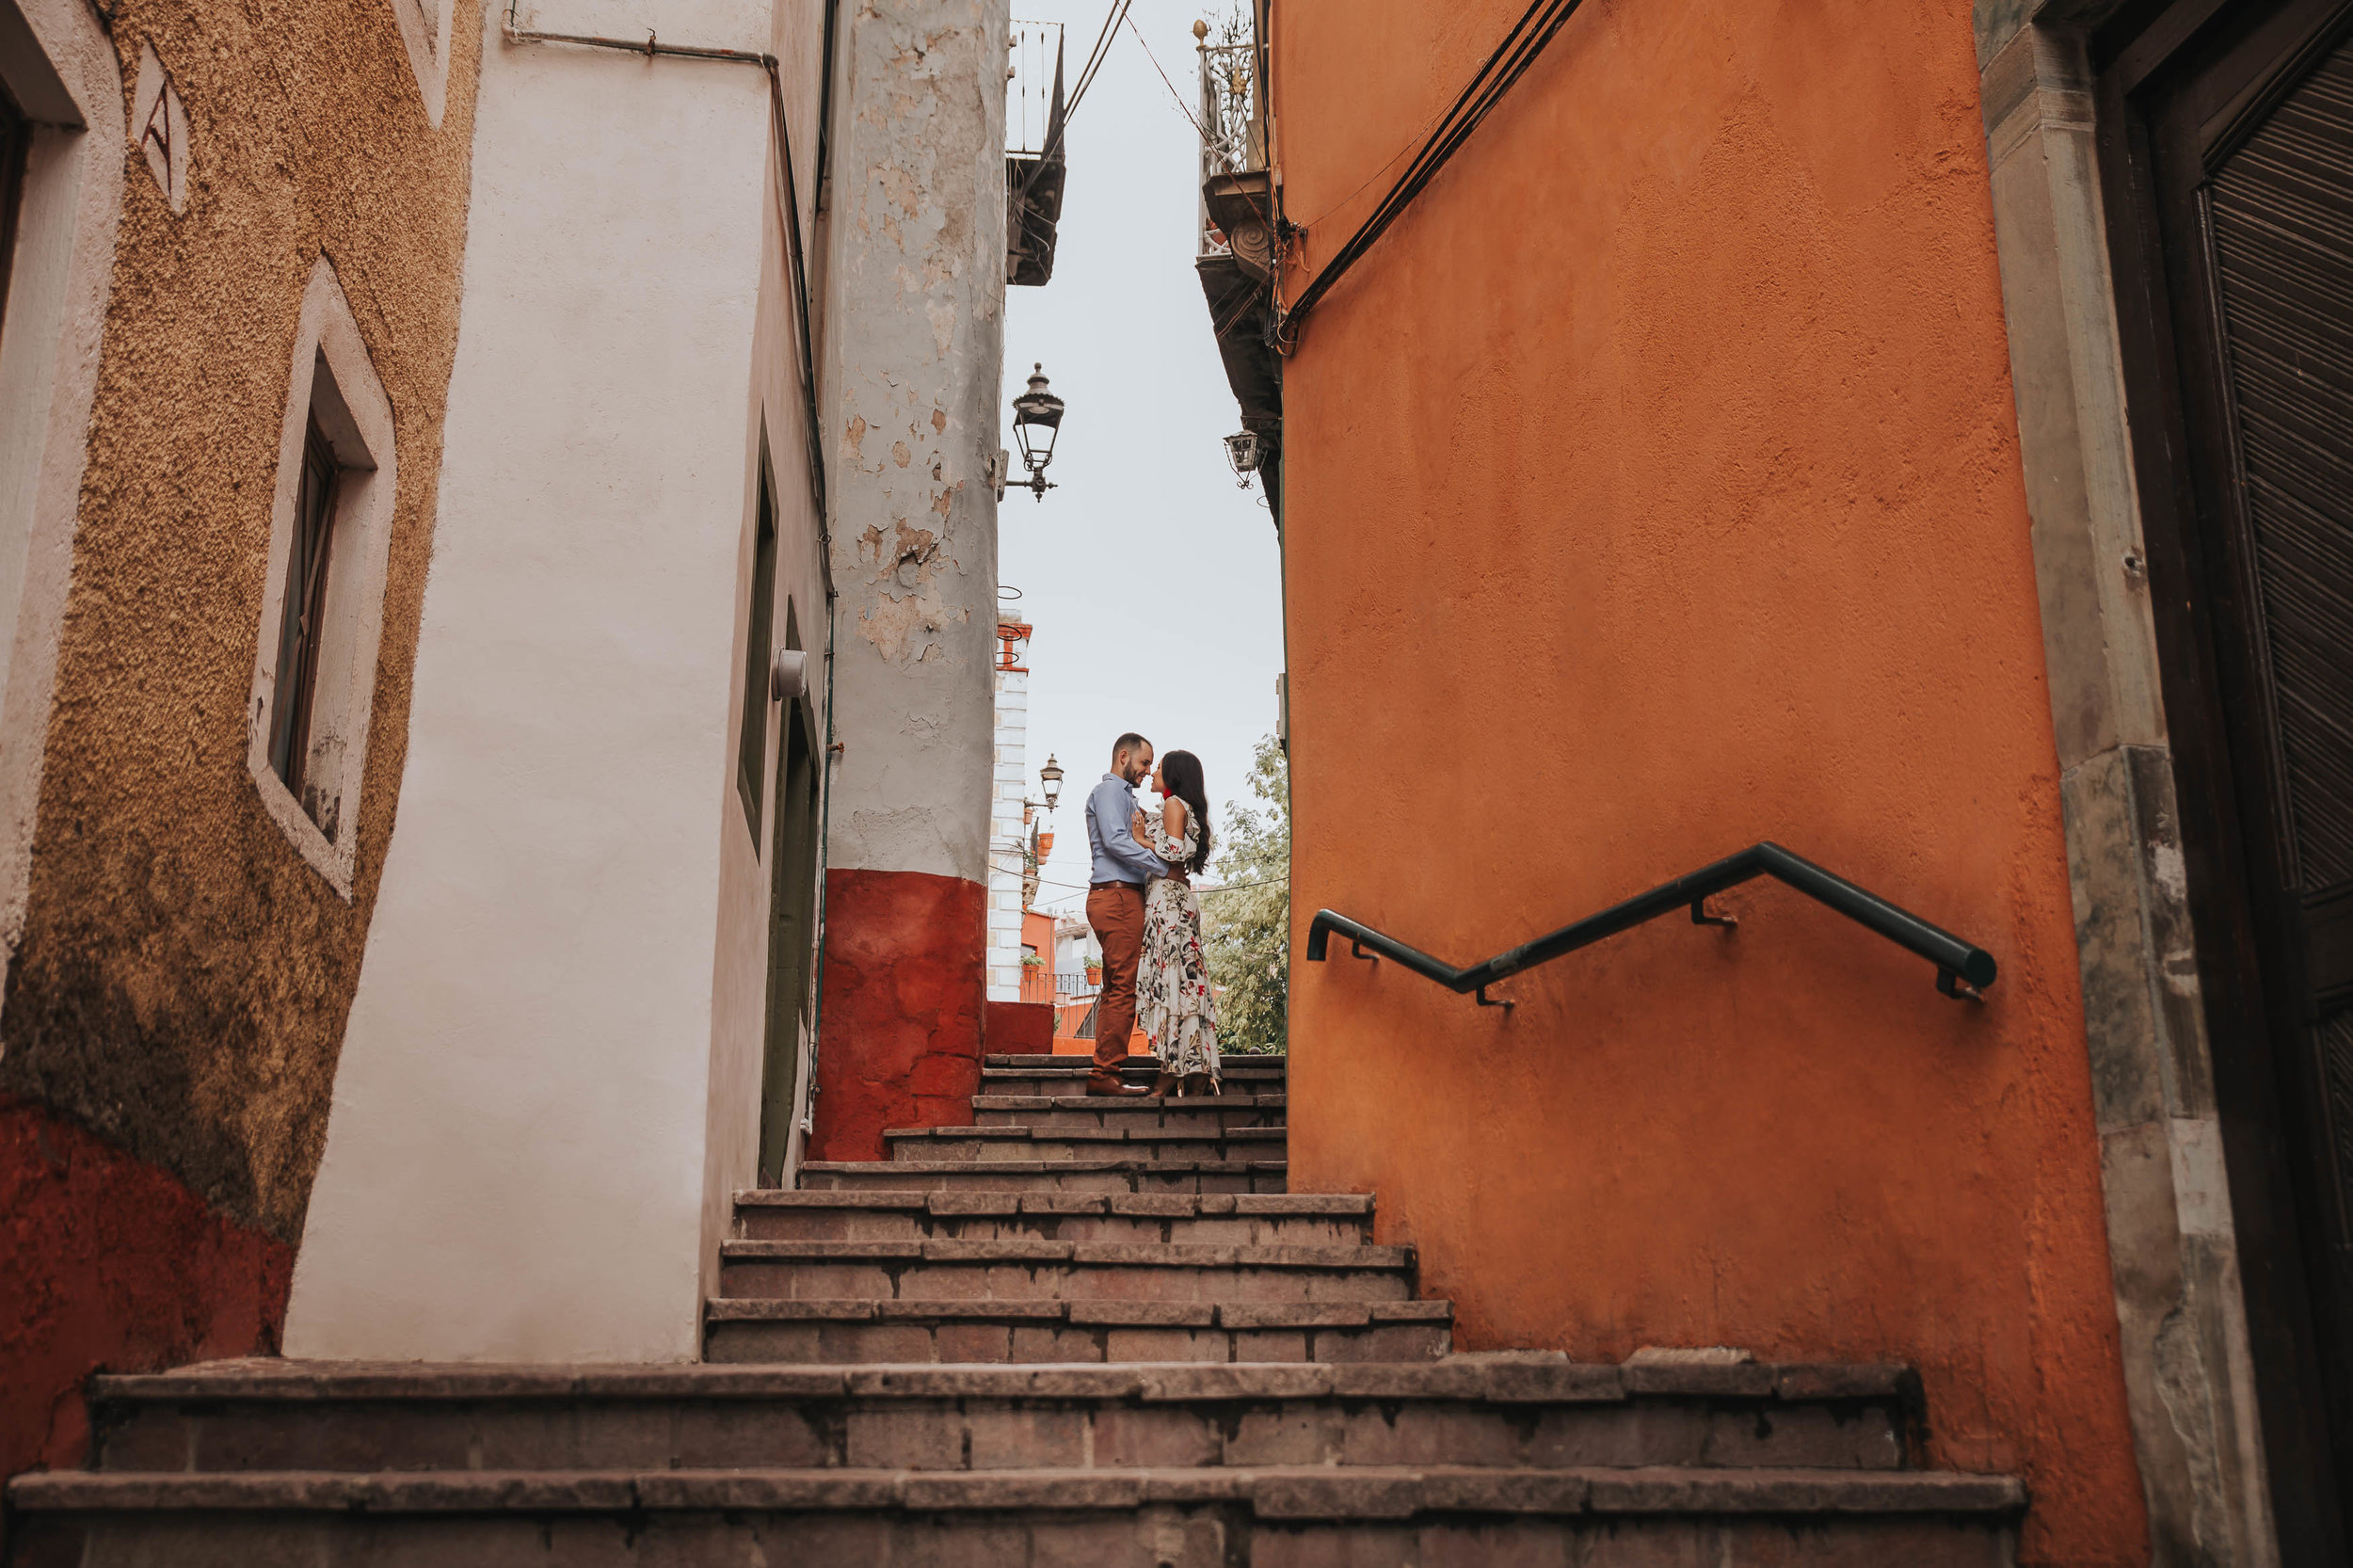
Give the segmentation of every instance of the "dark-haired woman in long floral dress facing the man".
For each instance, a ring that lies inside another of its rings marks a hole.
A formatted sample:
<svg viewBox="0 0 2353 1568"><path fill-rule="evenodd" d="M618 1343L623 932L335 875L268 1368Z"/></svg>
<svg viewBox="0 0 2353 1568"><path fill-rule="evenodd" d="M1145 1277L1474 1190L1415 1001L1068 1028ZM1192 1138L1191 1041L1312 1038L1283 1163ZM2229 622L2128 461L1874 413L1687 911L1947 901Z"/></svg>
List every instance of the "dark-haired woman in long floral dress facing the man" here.
<svg viewBox="0 0 2353 1568"><path fill-rule="evenodd" d="M1153 1095L1217 1092L1217 1003L1200 949L1193 876L1209 864L1209 798L1200 758L1169 751L1153 770L1158 812L1136 812L1136 843L1167 862L1144 885L1144 963L1136 968L1136 1022L1160 1057Z"/></svg>

